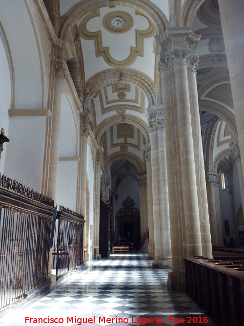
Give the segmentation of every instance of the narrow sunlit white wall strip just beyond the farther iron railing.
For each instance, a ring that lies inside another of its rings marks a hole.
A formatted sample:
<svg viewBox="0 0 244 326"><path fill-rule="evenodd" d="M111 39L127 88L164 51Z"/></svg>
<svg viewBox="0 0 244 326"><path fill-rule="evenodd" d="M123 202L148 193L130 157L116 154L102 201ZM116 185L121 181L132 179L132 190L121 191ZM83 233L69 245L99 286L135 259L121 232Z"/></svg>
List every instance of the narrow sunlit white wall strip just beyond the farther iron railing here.
<svg viewBox="0 0 244 326"><path fill-rule="evenodd" d="M86 171L88 176L88 186L89 186L89 259L92 258L92 238L91 236L91 229L93 230L93 217L94 217L94 168L93 168L93 161L92 161L92 152L89 145L87 145L87 162L86 162ZM92 235L93 237L93 235Z"/></svg>

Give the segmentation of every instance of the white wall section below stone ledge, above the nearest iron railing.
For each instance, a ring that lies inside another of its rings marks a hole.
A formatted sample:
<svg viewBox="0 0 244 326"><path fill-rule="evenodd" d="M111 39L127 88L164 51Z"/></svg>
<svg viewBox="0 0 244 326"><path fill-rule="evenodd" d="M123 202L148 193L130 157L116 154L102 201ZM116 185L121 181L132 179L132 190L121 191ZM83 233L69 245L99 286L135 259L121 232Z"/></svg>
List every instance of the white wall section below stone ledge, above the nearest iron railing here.
<svg viewBox="0 0 244 326"><path fill-rule="evenodd" d="M40 192L45 117L10 117L4 173Z"/></svg>

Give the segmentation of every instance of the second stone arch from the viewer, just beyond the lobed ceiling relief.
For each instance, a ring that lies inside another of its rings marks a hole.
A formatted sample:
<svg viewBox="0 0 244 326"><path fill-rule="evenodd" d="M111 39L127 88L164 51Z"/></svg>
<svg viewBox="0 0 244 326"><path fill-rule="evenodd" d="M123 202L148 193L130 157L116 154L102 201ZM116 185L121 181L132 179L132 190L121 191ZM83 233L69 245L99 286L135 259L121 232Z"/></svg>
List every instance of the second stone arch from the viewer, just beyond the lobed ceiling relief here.
<svg viewBox="0 0 244 326"><path fill-rule="evenodd" d="M121 83L136 85L144 92L149 107L156 104L156 90L153 81L137 70L121 68L103 70L88 79L84 87L84 109L89 108L89 102L101 88L118 83L118 74Z"/></svg>

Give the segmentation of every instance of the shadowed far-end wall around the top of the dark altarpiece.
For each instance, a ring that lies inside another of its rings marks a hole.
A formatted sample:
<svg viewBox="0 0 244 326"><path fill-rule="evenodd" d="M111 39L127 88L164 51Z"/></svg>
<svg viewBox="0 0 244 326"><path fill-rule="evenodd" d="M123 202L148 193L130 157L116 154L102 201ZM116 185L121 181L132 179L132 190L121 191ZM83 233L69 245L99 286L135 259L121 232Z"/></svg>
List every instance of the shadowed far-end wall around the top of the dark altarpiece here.
<svg viewBox="0 0 244 326"><path fill-rule="evenodd" d="M140 212L140 198L138 182L130 175L127 175L117 189L118 199L115 201L115 214L122 208L122 202L127 196L134 200L135 206Z"/></svg>

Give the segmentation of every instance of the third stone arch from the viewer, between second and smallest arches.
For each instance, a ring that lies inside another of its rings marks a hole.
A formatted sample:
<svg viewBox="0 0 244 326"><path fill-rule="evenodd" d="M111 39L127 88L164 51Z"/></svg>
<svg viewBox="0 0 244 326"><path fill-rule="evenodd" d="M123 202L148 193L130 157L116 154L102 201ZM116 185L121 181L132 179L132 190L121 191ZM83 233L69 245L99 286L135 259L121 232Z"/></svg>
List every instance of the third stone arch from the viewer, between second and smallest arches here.
<svg viewBox="0 0 244 326"><path fill-rule="evenodd" d="M148 128L147 128L147 124L142 121L140 118L135 117L134 115L130 115L130 114L123 114L123 121L121 120L121 117L119 114L115 114L112 115L106 119L104 119L97 127L96 130L96 140L99 144L100 138L103 134L103 132L113 126L116 125L118 123L128 123L129 125L133 125L135 127L137 127L139 130L142 131L142 134L145 138L145 142L146 144L149 143L149 132L148 132Z"/></svg>

